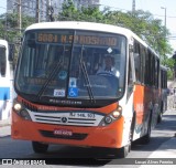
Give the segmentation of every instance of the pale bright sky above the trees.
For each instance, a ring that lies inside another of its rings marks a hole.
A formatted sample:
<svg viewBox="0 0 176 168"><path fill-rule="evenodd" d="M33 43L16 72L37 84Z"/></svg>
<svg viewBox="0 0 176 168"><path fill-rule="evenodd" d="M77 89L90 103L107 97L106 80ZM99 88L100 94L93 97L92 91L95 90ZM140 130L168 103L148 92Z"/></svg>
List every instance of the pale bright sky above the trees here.
<svg viewBox="0 0 176 168"><path fill-rule="evenodd" d="M0 0L0 14L6 13L7 0ZM110 7L111 10L121 10L123 12L132 10L133 0L100 0L101 7ZM170 32L169 43L176 51L176 1L175 0L135 0L135 10L150 11L155 19L161 19ZM172 38L173 36L173 38Z"/></svg>

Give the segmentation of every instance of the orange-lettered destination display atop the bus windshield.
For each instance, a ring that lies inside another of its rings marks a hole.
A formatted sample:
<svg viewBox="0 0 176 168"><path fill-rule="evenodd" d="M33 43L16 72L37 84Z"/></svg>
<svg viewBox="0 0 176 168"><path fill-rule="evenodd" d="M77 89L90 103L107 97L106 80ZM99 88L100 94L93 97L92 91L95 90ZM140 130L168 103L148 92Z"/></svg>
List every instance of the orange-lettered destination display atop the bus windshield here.
<svg viewBox="0 0 176 168"><path fill-rule="evenodd" d="M107 45L117 46L117 36L99 36L99 35L72 35L72 34L56 34L56 33L37 33L37 43L58 43L58 44L72 44L81 45Z"/></svg>

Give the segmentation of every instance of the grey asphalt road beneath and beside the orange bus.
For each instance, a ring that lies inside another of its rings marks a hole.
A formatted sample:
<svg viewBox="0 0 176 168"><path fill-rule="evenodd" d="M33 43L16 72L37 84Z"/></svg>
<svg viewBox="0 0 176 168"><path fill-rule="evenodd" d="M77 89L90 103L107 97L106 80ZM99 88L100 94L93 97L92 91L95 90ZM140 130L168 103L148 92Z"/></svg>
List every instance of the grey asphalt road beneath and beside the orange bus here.
<svg viewBox="0 0 176 168"><path fill-rule="evenodd" d="M82 147L69 147L63 145L51 145L46 154L34 154L32 150L31 141L25 140L13 140L10 135L0 137L0 158L21 158L21 159L37 159L54 161L57 167L120 167L127 168L131 164L130 168L139 168L141 165L134 164L140 158L146 159L153 156L158 158L156 151L161 150L161 146L165 144L165 149L173 149L176 151L176 111L167 111L161 124L152 132L151 143L148 145L133 144L131 153L125 159L97 159L109 158L110 153L105 153L102 149L95 148L82 148ZM174 143L168 143L174 139ZM156 154L156 155L153 155ZM165 157L165 156L163 156ZM176 153L173 153L172 158L176 159ZM176 165L175 165L176 166ZM50 167L55 167L51 165ZM170 166L169 166L170 168Z"/></svg>

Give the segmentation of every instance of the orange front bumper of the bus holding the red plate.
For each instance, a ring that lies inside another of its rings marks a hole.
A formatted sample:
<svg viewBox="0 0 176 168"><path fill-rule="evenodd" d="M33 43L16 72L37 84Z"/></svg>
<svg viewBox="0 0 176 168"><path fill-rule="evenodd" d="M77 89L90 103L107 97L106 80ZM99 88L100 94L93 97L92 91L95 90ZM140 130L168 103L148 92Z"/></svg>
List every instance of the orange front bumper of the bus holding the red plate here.
<svg viewBox="0 0 176 168"><path fill-rule="evenodd" d="M24 120L12 113L11 137L46 144L121 148L123 123L121 117L99 127L51 125Z"/></svg>

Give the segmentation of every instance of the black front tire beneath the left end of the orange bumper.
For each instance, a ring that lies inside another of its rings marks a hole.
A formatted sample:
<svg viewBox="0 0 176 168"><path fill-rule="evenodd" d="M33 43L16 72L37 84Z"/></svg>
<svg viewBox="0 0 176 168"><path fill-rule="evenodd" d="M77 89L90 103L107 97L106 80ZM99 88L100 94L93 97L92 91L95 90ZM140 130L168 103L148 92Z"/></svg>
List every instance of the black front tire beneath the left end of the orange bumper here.
<svg viewBox="0 0 176 168"><path fill-rule="evenodd" d="M48 148L48 144L43 144L38 141L32 141L33 150L37 154L46 153Z"/></svg>

